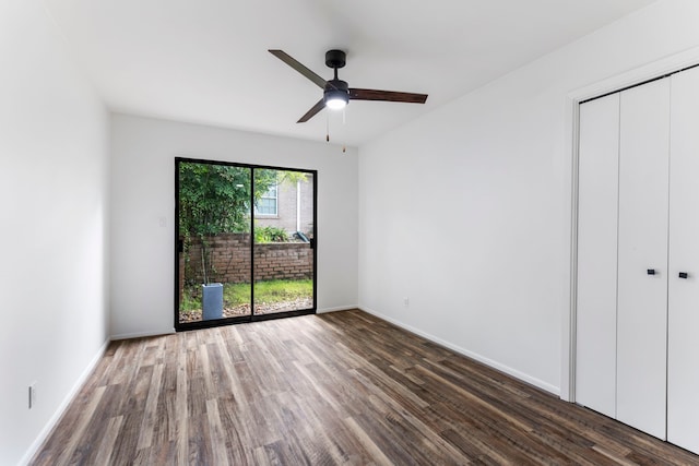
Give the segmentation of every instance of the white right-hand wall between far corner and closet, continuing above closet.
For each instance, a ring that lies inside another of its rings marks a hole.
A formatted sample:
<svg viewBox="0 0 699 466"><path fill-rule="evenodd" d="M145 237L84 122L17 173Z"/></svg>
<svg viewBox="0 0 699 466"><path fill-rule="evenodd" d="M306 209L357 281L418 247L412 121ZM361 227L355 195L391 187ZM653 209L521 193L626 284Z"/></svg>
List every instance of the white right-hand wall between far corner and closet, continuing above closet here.
<svg viewBox="0 0 699 466"><path fill-rule="evenodd" d="M570 95L699 45L697 24L699 2L659 1L362 146L359 306L559 393Z"/></svg>

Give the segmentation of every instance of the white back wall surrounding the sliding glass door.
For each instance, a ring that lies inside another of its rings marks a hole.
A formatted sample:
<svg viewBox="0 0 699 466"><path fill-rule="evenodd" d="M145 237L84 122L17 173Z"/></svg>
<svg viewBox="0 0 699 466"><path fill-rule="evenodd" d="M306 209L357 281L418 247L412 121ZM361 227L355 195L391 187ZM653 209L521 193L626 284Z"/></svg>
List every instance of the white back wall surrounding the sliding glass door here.
<svg viewBox="0 0 699 466"><path fill-rule="evenodd" d="M318 170L318 310L357 306L356 150L114 115L111 155L112 336L174 328L177 156Z"/></svg>

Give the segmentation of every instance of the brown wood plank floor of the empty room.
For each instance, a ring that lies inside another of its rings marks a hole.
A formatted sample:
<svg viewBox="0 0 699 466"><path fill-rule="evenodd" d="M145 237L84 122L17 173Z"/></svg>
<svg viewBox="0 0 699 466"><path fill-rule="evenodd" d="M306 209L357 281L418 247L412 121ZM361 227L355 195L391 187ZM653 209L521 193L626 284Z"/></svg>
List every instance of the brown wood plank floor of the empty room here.
<svg viewBox="0 0 699 466"><path fill-rule="evenodd" d="M353 310L115 342L32 464L699 457Z"/></svg>

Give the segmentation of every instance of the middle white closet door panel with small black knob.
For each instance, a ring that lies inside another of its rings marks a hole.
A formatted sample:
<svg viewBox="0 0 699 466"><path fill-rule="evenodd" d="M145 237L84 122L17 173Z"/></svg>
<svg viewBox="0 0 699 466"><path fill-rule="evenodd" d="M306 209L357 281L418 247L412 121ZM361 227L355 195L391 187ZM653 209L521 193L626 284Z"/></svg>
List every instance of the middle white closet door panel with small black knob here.
<svg viewBox="0 0 699 466"><path fill-rule="evenodd" d="M660 439L666 432L668 145L670 80L624 91L616 414Z"/></svg>

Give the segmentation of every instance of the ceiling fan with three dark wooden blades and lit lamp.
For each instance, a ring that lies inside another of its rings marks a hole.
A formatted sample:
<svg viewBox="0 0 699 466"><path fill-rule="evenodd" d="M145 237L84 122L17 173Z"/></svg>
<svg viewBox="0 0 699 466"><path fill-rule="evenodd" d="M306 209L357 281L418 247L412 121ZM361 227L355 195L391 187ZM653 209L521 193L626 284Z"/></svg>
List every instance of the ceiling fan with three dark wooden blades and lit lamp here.
<svg viewBox="0 0 699 466"><path fill-rule="evenodd" d="M310 110L308 110L306 115L297 121L297 123L305 123L310 120L316 116L316 113L322 110L323 107L331 109L344 108L350 100L403 101L408 104L425 104L427 100L427 94L350 87L346 81L342 81L337 77L337 70L345 65L346 55L342 50L328 50L325 52L325 64L328 68L332 68L335 72L334 77L330 81L323 80L283 50L269 51L323 89L323 98L318 100L318 103L313 105Z"/></svg>

